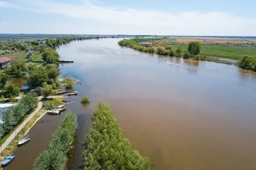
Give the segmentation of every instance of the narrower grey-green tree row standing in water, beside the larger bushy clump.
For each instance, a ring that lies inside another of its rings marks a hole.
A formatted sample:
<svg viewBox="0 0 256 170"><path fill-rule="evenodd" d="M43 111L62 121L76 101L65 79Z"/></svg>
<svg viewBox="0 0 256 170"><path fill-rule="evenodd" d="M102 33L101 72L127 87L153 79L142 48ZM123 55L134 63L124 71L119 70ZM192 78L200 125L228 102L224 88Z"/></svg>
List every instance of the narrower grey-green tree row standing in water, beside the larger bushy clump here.
<svg viewBox="0 0 256 170"><path fill-rule="evenodd" d="M49 150L40 153L35 160L33 169L65 169L65 162L67 162L68 152L72 148L77 127L77 116L74 111L67 111L53 134Z"/></svg>

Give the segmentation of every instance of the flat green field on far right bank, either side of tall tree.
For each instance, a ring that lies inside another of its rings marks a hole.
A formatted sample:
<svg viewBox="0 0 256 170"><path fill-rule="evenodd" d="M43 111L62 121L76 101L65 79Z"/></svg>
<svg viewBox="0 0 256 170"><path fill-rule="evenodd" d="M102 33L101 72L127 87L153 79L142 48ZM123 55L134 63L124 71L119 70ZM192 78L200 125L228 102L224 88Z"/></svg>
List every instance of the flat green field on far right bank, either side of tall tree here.
<svg viewBox="0 0 256 170"><path fill-rule="evenodd" d="M188 45L164 45L170 46L173 50L181 47L182 50L187 50ZM223 45L202 45L200 55L207 57L220 57L225 59L238 60L244 55L256 59L256 46L223 46Z"/></svg>

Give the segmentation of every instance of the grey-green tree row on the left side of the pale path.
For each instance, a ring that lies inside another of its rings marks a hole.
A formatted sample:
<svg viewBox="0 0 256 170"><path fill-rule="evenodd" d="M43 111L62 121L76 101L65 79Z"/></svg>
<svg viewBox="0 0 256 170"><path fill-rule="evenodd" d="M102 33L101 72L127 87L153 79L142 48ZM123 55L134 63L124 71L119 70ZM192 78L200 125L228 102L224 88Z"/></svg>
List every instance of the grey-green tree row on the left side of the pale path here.
<svg viewBox="0 0 256 170"><path fill-rule="evenodd" d="M35 93L28 93L19 103L8 108L3 113L3 124L0 124L0 138L12 131L28 114L38 106L38 99Z"/></svg>

